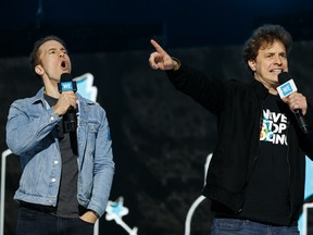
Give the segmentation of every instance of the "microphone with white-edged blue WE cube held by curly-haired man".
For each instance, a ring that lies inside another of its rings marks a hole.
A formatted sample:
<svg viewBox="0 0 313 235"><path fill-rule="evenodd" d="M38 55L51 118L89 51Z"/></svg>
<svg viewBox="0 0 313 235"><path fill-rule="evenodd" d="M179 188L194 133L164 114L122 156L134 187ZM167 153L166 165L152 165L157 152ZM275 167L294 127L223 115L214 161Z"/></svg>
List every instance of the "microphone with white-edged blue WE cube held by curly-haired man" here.
<svg viewBox="0 0 313 235"><path fill-rule="evenodd" d="M295 81L287 72L281 72L280 74L278 74L278 83L280 84L280 86L277 87L277 91L279 94L280 99L288 97L289 95L298 90ZM308 134L309 133L308 124L302 115L301 110L296 109L293 112L301 131L304 134Z"/></svg>

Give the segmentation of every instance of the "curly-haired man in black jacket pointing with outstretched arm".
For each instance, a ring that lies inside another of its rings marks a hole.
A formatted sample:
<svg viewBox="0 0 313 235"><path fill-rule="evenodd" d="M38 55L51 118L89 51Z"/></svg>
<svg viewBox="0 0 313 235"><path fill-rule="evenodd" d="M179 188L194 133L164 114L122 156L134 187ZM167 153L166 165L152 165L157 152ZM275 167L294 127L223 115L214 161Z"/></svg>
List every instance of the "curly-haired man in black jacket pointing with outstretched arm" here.
<svg viewBox="0 0 313 235"><path fill-rule="evenodd" d="M243 48L252 83L206 77L172 58L154 40L149 63L176 89L217 118L218 137L202 194L212 200L212 235L298 235L305 154L313 157L313 109L301 92L280 99L292 39L279 25L256 28ZM302 132L295 116L308 124Z"/></svg>

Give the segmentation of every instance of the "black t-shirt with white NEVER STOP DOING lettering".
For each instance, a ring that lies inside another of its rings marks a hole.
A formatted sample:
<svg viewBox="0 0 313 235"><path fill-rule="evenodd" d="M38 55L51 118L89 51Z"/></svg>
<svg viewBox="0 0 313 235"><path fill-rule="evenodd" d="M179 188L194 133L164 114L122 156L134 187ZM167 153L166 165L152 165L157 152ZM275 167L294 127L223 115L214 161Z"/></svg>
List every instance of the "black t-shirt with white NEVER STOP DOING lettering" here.
<svg viewBox="0 0 313 235"><path fill-rule="evenodd" d="M287 116L278 96L268 95L263 106L263 126L258 161L245 191L240 217L288 225L290 214Z"/></svg>

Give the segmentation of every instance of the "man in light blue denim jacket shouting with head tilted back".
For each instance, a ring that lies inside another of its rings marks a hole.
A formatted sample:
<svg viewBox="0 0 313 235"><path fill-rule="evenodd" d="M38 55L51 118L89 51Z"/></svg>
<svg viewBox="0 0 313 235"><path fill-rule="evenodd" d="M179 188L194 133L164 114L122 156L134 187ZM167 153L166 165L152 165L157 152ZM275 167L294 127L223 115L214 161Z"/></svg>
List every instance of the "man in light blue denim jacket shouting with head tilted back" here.
<svg viewBox="0 0 313 235"><path fill-rule="evenodd" d="M7 124L7 144L23 169L16 234L92 234L114 174L105 111L73 90L60 94L60 77L72 69L61 38L39 39L29 59L45 87L14 101ZM63 127L70 108L77 116L71 133Z"/></svg>

